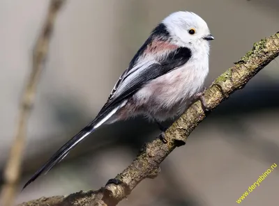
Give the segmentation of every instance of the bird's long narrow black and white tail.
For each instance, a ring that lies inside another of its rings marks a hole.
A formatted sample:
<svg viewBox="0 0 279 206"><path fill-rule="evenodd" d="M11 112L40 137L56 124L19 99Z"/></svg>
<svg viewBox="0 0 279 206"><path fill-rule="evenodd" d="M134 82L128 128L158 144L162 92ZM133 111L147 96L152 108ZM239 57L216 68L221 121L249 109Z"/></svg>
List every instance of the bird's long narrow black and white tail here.
<svg viewBox="0 0 279 206"><path fill-rule="evenodd" d="M98 116L95 120L93 120L89 125L84 127L78 134L73 136L65 145L63 145L52 157L24 184L22 190L27 187L31 182L36 180L40 175L46 174L50 171L54 165L58 164L66 155L75 148L75 146L80 143L86 136L89 136L92 132L94 132L100 125L103 125L118 109L121 108L122 105L116 106L116 108L112 109L112 111L108 112L107 115Z"/></svg>

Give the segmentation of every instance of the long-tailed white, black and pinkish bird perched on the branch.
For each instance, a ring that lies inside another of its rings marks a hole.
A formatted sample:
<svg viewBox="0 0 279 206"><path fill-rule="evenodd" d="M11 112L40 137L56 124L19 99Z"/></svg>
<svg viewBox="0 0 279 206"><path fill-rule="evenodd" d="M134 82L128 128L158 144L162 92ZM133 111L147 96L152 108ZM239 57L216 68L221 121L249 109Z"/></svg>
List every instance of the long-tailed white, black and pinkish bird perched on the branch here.
<svg viewBox="0 0 279 206"><path fill-rule="evenodd" d="M213 39L204 19L193 12L176 11L165 17L116 81L96 118L59 148L23 189L101 125L144 116L157 122L163 134L161 122L181 115L204 89Z"/></svg>

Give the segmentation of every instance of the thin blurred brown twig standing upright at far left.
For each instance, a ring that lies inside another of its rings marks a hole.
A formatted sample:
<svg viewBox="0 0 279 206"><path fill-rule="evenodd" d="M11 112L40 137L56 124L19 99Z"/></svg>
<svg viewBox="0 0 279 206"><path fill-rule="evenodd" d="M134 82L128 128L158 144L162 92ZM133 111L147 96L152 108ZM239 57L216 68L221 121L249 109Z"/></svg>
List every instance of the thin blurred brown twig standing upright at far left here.
<svg viewBox="0 0 279 206"><path fill-rule="evenodd" d="M3 189L1 191L1 205L13 205L13 201L15 199L17 182L20 180L22 152L24 150L27 136L27 121L33 108L38 81L40 80L40 76L43 72L55 17L64 1L65 0L52 0L50 2L47 19L33 49L33 65L31 75L27 81L27 85L20 102L20 111L18 115L15 138L12 148L10 149L10 156L4 171L3 178L5 184L3 185Z"/></svg>

